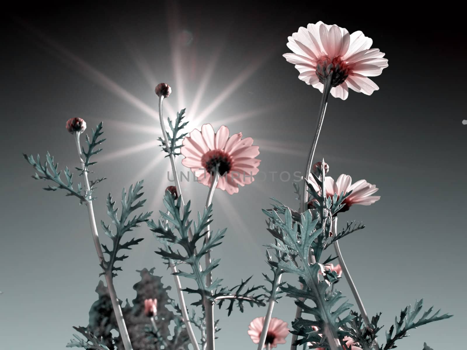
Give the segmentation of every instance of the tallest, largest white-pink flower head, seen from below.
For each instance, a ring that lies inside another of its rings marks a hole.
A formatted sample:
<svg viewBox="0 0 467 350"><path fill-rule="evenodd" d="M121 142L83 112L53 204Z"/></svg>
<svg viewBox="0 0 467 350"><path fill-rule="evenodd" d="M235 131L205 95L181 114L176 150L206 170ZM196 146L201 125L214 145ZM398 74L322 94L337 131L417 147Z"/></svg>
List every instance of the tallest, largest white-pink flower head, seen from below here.
<svg viewBox="0 0 467 350"><path fill-rule="evenodd" d="M379 49L370 49L373 41L359 30L347 29L319 21L289 36L287 46L293 53L283 56L295 64L298 78L323 92L324 82L332 75L331 95L345 100L348 88L365 95L378 90L368 77L376 77L388 67Z"/></svg>

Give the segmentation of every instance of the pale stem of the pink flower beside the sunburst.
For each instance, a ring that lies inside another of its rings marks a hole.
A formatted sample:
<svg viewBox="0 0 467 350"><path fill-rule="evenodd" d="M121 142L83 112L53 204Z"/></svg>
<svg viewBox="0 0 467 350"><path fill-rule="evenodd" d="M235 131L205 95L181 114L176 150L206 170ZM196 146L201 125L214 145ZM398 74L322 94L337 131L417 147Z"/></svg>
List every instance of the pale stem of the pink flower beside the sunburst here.
<svg viewBox="0 0 467 350"><path fill-rule="evenodd" d="M214 189L217 186L219 181L219 172L216 171L216 175L212 179L211 187L209 188L209 193L206 199L206 209L212 203L212 197L214 196ZM205 241L207 242L211 237L211 232L209 225L206 227L207 233ZM207 268L211 264L211 252L207 252L205 255L205 267ZM206 276L206 287L211 286L212 284L212 273L209 272ZM206 344L207 350L214 350L214 337L215 337L215 326L214 326L214 301L209 300L206 296L203 301L206 314Z"/></svg>

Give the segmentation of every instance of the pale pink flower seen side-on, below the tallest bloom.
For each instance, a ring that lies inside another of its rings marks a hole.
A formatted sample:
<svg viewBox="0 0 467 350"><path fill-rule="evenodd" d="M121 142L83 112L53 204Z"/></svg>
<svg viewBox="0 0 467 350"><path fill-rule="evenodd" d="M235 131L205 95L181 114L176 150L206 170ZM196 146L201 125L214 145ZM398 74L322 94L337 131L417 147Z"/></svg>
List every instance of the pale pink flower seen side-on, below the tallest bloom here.
<svg viewBox="0 0 467 350"><path fill-rule="evenodd" d="M320 193L318 184L315 179L310 176L310 183L313 185L313 188ZM337 181L331 176L325 176L325 187L326 187L326 196L334 196L334 193L337 193L337 197L340 197L340 194L344 192L346 194L349 191L352 193L344 199L344 207L339 210L339 212L347 211L354 204L361 205L370 205L379 200L380 196L371 196L378 189L376 185L368 183L366 180L359 180L355 183L352 183L352 178L349 175L342 174L337 178ZM308 202L308 208L313 208L313 201Z"/></svg>

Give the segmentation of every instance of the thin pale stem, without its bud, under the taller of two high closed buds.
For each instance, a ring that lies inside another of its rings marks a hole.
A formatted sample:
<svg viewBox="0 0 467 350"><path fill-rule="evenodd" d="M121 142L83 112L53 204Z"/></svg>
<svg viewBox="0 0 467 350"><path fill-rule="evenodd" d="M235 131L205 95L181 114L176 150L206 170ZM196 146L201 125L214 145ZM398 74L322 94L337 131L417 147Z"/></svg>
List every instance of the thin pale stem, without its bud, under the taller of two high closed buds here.
<svg viewBox="0 0 467 350"><path fill-rule="evenodd" d="M163 118L163 114L162 114L162 102L163 102L163 100L164 100L164 97L163 97L163 95L161 95L161 97L159 97L159 121L161 122L161 129L162 129L162 134L163 134L164 141L165 141L165 147L169 148L169 136L167 135L167 131L165 131L165 123L164 123L164 118ZM175 164L175 157L174 157L174 155L172 153L170 153L169 157L170 157L170 164L172 166L172 172L174 174L175 187L177 188L177 195L180 197L180 201L182 203L182 205L181 205L182 212L184 212L185 203L184 203L184 200L183 200L182 189L180 188L180 181L178 180L178 173L177 173L177 166ZM190 238L190 240L193 238L193 234L191 232L191 229L188 230L188 237ZM177 272L177 266L175 266L174 264L172 264L170 266L170 268L172 269L172 273ZM191 341L191 344L193 345L193 349L199 350L198 341L196 340L196 336L195 336L195 333L193 331L193 327L191 326L191 322L190 322L190 319L188 317L188 313L186 311L186 304L185 304L185 299L184 299L184 295L183 295L183 292L182 292L182 285L180 283L180 278L178 276L175 276L175 275L174 275L174 278L175 278L175 284L177 286L177 294L178 294L178 299L180 301L180 308L182 309L183 322L185 323L186 331L188 332L188 336L190 337L190 341Z"/></svg>

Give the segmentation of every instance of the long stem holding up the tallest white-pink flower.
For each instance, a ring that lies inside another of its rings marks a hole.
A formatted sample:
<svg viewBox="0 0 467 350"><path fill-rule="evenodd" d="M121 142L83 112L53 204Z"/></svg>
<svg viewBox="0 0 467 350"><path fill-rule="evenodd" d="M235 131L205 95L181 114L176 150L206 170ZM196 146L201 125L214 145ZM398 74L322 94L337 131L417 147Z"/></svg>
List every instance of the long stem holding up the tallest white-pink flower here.
<svg viewBox="0 0 467 350"><path fill-rule="evenodd" d="M329 74L326 78L324 88L323 88L323 96L321 97L321 105L319 106L319 118L318 118L318 125L316 126L315 136L313 138L313 142L311 143L310 153L308 154L308 161L306 162L305 171L303 174L303 184L302 184L302 195L300 196L300 212L303 213L307 209L308 203L308 190L306 185L306 180L311 173L311 167L313 166L313 156L315 154L316 145L318 144L318 137L319 133L321 132L321 127L323 126L324 115L326 112L327 106L327 99L329 98L329 92L331 91L331 82L333 79L333 75ZM315 255L310 252L310 260L312 264L316 263ZM302 316L302 309L297 306L297 310L295 312L295 319L300 318ZM290 346L290 350L297 350L297 345L293 345L297 341L298 336L292 335L292 346Z"/></svg>

